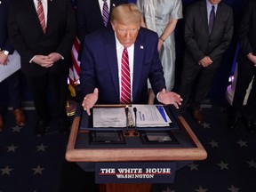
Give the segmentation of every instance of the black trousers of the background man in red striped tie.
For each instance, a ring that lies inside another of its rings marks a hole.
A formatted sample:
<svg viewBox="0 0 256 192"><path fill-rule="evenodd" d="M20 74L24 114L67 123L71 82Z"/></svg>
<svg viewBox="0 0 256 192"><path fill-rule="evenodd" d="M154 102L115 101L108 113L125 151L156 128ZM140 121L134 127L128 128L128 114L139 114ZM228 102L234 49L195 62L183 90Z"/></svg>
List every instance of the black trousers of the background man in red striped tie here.
<svg viewBox="0 0 256 192"><path fill-rule="evenodd" d="M50 119L49 98L52 99L52 114L55 120L66 119L67 78L65 73L44 76L28 76L28 84L34 96L37 120Z"/></svg>

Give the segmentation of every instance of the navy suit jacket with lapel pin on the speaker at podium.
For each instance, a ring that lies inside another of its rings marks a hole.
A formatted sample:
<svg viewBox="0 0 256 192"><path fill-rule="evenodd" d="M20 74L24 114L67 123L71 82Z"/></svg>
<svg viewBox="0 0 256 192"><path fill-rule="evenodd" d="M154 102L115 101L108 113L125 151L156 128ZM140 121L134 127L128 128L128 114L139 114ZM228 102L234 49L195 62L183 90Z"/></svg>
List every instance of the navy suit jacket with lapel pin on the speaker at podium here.
<svg viewBox="0 0 256 192"><path fill-rule="evenodd" d="M132 103L148 102L149 78L155 93L165 88L164 72L157 51L158 36L140 28L134 43ZM116 38L112 29L102 29L84 38L80 80L84 95L99 88L98 103L120 103Z"/></svg>

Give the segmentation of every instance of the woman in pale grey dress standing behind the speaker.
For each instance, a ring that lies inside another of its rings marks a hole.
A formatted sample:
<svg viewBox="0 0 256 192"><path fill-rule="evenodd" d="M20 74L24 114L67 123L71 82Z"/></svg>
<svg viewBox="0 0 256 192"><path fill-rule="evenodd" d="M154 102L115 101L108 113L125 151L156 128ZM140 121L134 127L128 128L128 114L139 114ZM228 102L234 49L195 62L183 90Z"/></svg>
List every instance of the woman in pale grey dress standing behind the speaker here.
<svg viewBox="0 0 256 192"><path fill-rule="evenodd" d="M159 36L158 51L164 68L166 90L172 91L175 79L175 38L174 29L182 15L181 0L138 0L143 13L142 27L156 31ZM149 89L148 104L153 104L155 94Z"/></svg>

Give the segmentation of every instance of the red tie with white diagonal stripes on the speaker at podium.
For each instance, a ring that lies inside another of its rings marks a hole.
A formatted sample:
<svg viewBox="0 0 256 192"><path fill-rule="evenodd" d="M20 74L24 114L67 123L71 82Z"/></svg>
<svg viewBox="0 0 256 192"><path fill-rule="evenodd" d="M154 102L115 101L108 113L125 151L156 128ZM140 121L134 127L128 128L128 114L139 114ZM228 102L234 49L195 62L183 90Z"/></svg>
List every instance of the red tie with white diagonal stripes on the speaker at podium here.
<svg viewBox="0 0 256 192"><path fill-rule="evenodd" d="M127 48L124 47L121 62L121 104L131 103L131 78Z"/></svg>

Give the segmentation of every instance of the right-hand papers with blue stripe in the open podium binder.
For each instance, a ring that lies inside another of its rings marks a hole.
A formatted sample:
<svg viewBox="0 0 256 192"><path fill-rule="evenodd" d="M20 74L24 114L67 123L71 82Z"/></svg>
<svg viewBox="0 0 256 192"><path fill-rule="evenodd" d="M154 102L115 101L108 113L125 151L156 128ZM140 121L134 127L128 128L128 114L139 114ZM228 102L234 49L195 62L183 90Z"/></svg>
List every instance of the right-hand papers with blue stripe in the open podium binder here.
<svg viewBox="0 0 256 192"><path fill-rule="evenodd" d="M156 105L132 105L132 108L137 108L138 127L169 126L169 124L172 123L171 119L166 114L164 107L159 105L164 114L161 114L160 110L156 107ZM132 113L132 116L134 120L134 113Z"/></svg>

